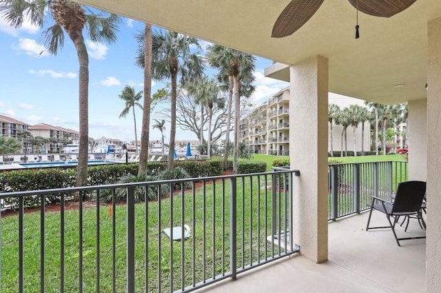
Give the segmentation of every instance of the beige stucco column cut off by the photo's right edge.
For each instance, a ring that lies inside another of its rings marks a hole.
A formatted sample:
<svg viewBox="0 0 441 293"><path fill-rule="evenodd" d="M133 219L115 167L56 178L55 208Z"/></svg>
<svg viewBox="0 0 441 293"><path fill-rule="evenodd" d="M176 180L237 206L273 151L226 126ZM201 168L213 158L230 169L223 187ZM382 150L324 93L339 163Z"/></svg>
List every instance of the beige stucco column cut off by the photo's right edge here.
<svg viewBox="0 0 441 293"><path fill-rule="evenodd" d="M428 23L426 287L441 292L441 18Z"/></svg>

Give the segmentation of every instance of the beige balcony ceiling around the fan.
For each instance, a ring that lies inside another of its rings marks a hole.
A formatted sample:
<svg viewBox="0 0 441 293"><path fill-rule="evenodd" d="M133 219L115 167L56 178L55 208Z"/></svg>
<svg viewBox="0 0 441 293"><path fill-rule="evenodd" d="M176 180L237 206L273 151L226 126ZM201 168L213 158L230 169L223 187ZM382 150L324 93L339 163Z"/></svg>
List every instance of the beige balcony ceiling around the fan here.
<svg viewBox="0 0 441 293"><path fill-rule="evenodd" d="M440 0L417 0L390 19L360 12L355 39L355 8L325 0L293 35L271 39L289 0L77 1L288 65L320 54L329 59L329 91L379 103L426 98L427 21L441 17ZM289 79L289 70L273 69L270 77Z"/></svg>

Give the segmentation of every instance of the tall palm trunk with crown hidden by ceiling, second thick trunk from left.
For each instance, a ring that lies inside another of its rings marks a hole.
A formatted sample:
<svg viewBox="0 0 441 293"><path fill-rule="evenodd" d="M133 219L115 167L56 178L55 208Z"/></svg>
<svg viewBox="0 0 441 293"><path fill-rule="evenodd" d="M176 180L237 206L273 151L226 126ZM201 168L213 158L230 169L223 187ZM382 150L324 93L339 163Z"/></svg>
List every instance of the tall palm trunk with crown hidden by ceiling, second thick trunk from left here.
<svg viewBox="0 0 441 293"><path fill-rule="evenodd" d="M141 126L141 150L139 152L138 176L145 178L149 157L150 100L152 93L152 25L145 23L144 30L144 103Z"/></svg>

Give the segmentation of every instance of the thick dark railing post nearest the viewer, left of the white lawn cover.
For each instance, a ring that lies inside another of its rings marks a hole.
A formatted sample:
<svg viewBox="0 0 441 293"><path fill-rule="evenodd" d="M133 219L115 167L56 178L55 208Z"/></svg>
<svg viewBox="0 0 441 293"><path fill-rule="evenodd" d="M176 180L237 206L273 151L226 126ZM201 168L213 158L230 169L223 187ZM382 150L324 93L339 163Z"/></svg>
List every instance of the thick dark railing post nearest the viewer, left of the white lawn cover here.
<svg viewBox="0 0 441 293"><path fill-rule="evenodd" d="M127 292L135 292L135 187L134 186L130 186L127 188Z"/></svg>

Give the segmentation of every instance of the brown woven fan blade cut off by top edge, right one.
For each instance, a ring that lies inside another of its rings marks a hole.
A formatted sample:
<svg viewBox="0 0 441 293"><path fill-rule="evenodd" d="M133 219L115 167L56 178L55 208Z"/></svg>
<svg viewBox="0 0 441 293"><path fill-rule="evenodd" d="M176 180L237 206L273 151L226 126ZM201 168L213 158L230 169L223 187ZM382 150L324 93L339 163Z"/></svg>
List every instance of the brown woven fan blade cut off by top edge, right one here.
<svg viewBox="0 0 441 293"><path fill-rule="evenodd" d="M348 0L353 7L374 17L393 17L416 0Z"/></svg>

